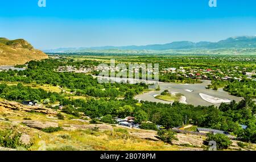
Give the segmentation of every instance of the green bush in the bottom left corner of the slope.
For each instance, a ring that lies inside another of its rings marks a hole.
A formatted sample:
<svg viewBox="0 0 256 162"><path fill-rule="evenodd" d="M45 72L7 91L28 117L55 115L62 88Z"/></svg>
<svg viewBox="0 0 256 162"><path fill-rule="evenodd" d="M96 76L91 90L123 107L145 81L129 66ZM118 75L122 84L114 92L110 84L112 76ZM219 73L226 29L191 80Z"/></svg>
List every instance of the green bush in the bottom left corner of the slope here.
<svg viewBox="0 0 256 162"><path fill-rule="evenodd" d="M15 129L0 130L0 146L7 148L29 148L30 145L20 142L21 135Z"/></svg>

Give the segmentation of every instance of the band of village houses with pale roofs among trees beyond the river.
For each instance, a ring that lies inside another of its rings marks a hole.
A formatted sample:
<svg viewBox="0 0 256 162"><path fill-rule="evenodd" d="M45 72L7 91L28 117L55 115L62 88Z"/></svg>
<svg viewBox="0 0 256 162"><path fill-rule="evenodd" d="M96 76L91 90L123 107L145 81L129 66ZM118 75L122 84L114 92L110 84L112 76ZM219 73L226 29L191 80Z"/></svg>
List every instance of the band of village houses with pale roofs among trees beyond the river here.
<svg viewBox="0 0 256 162"><path fill-rule="evenodd" d="M135 67L132 66L129 70L122 69L121 67L104 67L104 66L90 66L90 67L85 67L85 66L80 66L77 68L76 66L60 66L56 71L58 72L69 72L69 73L85 73L85 74L90 74L90 73L95 73L95 72L126 72L129 71L131 73L139 73L140 70L144 66L139 66ZM148 69L147 74L155 74L154 68L153 69ZM250 79L250 80L256 80L255 76L255 70L249 70L247 71L246 68L241 67L232 67L228 70L224 69L196 69L196 68L184 68L184 67L179 67L178 69L175 67L169 67L169 68L164 68L160 70L160 74L176 74L177 77L184 77L184 78L191 78L191 79L199 79L199 80L238 80L241 81L242 79Z"/></svg>

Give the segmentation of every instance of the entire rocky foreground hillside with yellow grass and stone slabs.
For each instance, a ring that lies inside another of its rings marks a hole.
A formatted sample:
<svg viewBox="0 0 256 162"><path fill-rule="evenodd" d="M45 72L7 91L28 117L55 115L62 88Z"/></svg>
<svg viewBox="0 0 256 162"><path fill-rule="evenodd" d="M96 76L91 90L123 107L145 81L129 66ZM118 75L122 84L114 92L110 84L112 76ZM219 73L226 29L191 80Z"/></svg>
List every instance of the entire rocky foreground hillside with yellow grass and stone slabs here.
<svg viewBox="0 0 256 162"><path fill-rule="evenodd" d="M0 99L0 137L14 137L9 140L15 145L1 150L127 150L127 151L203 151L206 137L178 133L174 144L160 141L156 131L131 129L106 123L90 123L89 118L76 118L60 110L43 105L26 106ZM1 138L0 138L1 139ZM3 138L2 138L3 139ZM18 141L20 140L20 142ZM255 144L246 148L232 140L228 150L255 150Z"/></svg>

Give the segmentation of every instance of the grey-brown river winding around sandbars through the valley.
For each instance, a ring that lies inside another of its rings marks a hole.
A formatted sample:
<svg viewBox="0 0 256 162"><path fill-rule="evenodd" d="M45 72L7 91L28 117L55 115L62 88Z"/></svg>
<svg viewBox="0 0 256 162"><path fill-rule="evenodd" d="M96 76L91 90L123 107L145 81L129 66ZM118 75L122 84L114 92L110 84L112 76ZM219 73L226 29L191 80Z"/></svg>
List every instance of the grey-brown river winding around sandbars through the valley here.
<svg viewBox="0 0 256 162"><path fill-rule="evenodd" d="M94 78L108 78L108 77L102 77L102 76L95 76L93 75ZM114 78L110 79L114 80ZM120 80L126 80L123 78L115 78L117 82L120 82ZM127 79L130 80L130 79ZM151 102L156 102L156 103L164 103L164 104L171 104L171 102L168 101L163 101L159 99L155 99L156 95L160 95L164 90L169 90L171 92L178 92L181 93L186 97L186 102L188 104L192 105L202 105L202 106L209 106L209 105L216 105L219 106L221 103L214 103L214 102L209 102L205 99L203 99L200 94L209 96L209 97L216 97L216 100L235 100L235 101L241 101L241 97L236 97L229 95L228 92L224 91L222 88L218 89L217 91L212 90L212 89L206 89L205 87L210 84L210 80L202 80L203 83L199 84L177 84L177 83L163 83L159 82L160 86L160 91L150 91L147 93L143 93L141 95L137 95L134 97L136 100L142 100L142 101L151 101ZM210 100L210 99L209 99Z"/></svg>

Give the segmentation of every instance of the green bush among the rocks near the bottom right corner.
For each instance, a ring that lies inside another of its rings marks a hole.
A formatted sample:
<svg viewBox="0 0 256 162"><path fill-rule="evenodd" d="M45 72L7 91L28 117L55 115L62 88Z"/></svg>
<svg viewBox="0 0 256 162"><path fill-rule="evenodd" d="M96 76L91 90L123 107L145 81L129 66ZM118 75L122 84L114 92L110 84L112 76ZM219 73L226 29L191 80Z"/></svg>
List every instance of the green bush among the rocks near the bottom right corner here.
<svg viewBox="0 0 256 162"><path fill-rule="evenodd" d="M228 137L226 137L225 134L208 133L206 141L210 142L212 140L216 142L218 150L226 149L232 144L230 139Z"/></svg>

